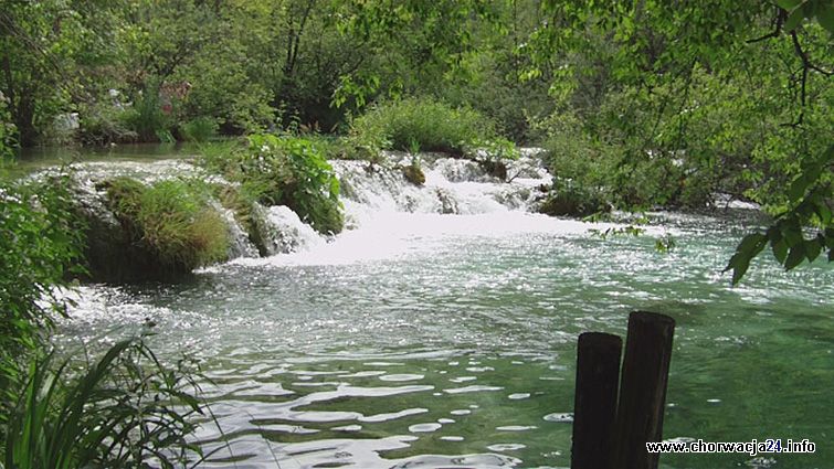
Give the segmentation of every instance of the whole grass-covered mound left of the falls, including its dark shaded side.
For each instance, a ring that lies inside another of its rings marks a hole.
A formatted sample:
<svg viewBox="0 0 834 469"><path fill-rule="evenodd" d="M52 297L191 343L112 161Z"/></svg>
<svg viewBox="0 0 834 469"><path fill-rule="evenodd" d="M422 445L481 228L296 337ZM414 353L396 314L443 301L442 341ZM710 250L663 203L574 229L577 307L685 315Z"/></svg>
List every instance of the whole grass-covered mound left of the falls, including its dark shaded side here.
<svg viewBox="0 0 834 469"><path fill-rule="evenodd" d="M105 210L84 212L94 280L170 279L226 259L229 226L200 183L116 178L98 189Z"/></svg>

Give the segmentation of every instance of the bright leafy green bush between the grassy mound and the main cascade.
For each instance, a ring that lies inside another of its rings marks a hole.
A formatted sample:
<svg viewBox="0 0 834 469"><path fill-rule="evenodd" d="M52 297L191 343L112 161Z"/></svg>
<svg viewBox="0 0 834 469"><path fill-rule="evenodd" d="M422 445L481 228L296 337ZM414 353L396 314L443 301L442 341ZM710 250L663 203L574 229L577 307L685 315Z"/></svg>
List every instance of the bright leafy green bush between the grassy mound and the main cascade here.
<svg viewBox="0 0 834 469"><path fill-rule="evenodd" d="M319 233L339 233L344 221L339 180L309 140L270 134L249 137L240 157L240 178L263 188L260 201L286 205Z"/></svg>

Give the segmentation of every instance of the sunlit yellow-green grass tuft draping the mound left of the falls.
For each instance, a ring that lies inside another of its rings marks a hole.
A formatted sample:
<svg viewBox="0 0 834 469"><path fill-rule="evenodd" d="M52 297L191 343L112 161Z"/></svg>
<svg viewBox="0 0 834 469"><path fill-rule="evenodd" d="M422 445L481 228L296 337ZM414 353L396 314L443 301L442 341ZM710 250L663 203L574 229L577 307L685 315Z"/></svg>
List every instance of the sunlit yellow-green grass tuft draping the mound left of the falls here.
<svg viewBox="0 0 834 469"><path fill-rule="evenodd" d="M226 257L229 228L209 204L210 188L196 180L145 185L129 178L106 184L124 230L160 275L190 273Z"/></svg>

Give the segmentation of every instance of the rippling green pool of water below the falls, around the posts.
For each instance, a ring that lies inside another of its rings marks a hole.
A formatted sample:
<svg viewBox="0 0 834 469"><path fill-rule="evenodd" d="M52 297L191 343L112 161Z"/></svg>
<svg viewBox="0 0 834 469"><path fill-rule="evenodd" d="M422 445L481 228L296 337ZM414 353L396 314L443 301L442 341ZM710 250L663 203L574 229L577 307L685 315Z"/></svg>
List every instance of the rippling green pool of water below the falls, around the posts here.
<svg viewBox="0 0 834 469"><path fill-rule="evenodd" d="M609 239L520 212L380 215L178 285L82 287L63 339L152 319L162 355L200 358L224 435L197 436L221 448L204 467L568 467L578 334L658 311L677 321L665 438L816 444L662 467L834 468L834 269L763 258L731 287L740 213Z"/></svg>

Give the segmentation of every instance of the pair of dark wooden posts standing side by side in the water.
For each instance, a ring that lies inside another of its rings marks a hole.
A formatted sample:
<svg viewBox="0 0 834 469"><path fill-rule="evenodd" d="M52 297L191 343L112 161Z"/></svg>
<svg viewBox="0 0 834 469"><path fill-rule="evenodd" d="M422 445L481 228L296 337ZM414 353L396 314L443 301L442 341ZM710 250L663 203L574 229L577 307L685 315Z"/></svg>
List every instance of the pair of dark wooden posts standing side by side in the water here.
<svg viewBox="0 0 834 469"><path fill-rule="evenodd" d="M646 441L662 438L674 330L668 316L632 312L622 377L619 335L579 337L571 469L657 468Z"/></svg>

